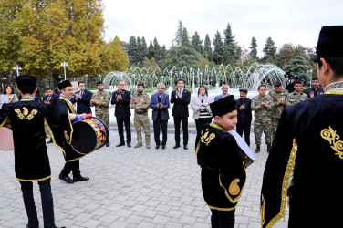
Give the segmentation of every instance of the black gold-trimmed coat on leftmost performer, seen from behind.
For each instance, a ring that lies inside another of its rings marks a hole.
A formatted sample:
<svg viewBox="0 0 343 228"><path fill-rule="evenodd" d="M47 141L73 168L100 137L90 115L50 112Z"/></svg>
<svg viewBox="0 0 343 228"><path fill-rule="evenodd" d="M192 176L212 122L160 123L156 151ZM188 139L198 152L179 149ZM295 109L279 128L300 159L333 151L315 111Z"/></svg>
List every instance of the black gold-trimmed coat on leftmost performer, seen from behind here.
<svg viewBox="0 0 343 228"><path fill-rule="evenodd" d="M48 115L49 106L34 99L3 105L0 128L7 119L11 121L19 181L44 181L51 177L44 128Z"/></svg>

